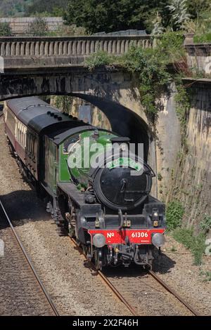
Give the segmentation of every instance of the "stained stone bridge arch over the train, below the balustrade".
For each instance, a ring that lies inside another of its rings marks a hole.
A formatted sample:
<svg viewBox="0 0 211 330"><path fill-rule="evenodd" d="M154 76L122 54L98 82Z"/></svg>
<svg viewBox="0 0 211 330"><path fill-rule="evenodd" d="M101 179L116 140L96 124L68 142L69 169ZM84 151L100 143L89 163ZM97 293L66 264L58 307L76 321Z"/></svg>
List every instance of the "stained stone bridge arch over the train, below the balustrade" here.
<svg viewBox="0 0 211 330"><path fill-rule="evenodd" d="M72 95L98 107L113 131L143 143L144 159L155 169L155 140L131 74L120 67L28 67L5 70L0 77L0 100L33 95Z"/></svg>

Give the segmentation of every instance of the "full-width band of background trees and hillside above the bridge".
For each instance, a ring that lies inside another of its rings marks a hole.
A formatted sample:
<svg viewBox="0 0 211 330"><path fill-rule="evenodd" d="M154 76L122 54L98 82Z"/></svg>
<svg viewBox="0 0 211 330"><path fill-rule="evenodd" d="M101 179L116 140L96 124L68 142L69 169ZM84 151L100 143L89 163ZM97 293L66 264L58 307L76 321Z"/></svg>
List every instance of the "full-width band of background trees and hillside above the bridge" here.
<svg viewBox="0 0 211 330"><path fill-rule="evenodd" d="M0 15L31 16L46 13L63 16L67 25L84 27L87 33L146 29L194 32L197 42L209 42L210 0L1 0Z"/></svg>

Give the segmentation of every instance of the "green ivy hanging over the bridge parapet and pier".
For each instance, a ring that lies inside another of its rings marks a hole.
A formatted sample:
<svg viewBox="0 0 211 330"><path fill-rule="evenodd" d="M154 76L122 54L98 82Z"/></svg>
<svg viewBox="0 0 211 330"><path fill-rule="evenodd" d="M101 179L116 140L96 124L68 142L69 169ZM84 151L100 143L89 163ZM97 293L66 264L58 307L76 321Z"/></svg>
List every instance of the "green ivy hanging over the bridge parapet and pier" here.
<svg viewBox="0 0 211 330"><path fill-rule="evenodd" d="M121 57L109 55L104 51L98 51L92 54L85 61L85 65L89 70L99 65L122 65L128 72L138 77L137 84L141 95L141 103L145 109L146 115L152 124L156 123L158 112L162 109L162 105L158 102L163 93L170 90L170 82L173 77L170 74L170 63L184 62L184 37L181 32L166 32L157 40L157 46L153 48L143 48L132 46L127 54ZM183 69L183 66L177 70ZM175 74L174 74L175 76ZM181 79L177 79L178 90L183 91ZM181 93L179 94L181 95ZM179 99L179 106L182 107L182 101L185 100L184 95ZM184 108L188 107L187 102Z"/></svg>

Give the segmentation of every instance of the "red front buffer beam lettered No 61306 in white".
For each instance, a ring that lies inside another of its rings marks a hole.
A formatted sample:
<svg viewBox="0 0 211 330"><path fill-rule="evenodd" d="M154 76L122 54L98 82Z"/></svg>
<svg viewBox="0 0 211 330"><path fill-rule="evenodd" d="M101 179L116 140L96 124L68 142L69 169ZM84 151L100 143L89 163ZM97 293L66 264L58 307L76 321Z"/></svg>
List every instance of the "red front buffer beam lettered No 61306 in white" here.
<svg viewBox="0 0 211 330"><path fill-rule="evenodd" d="M125 237L129 238L130 243L151 244L152 234L165 232L165 229L146 229L146 230L89 230L92 237L99 233L106 237L106 244L125 244Z"/></svg>

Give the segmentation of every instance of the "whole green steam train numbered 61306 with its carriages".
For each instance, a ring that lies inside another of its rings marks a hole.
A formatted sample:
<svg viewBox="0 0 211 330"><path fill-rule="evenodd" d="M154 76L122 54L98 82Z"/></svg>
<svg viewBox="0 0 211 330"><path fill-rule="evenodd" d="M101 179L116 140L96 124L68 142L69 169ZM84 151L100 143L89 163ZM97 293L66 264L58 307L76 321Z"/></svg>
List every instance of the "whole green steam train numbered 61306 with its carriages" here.
<svg viewBox="0 0 211 330"><path fill-rule="evenodd" d="M125 155L128 138L37 97L8 100L4 121L20 170L46 201L59 235L75 237L97 269L152 267L153 249L165 244L165 204L150 195L151 167Z"/></svg>

